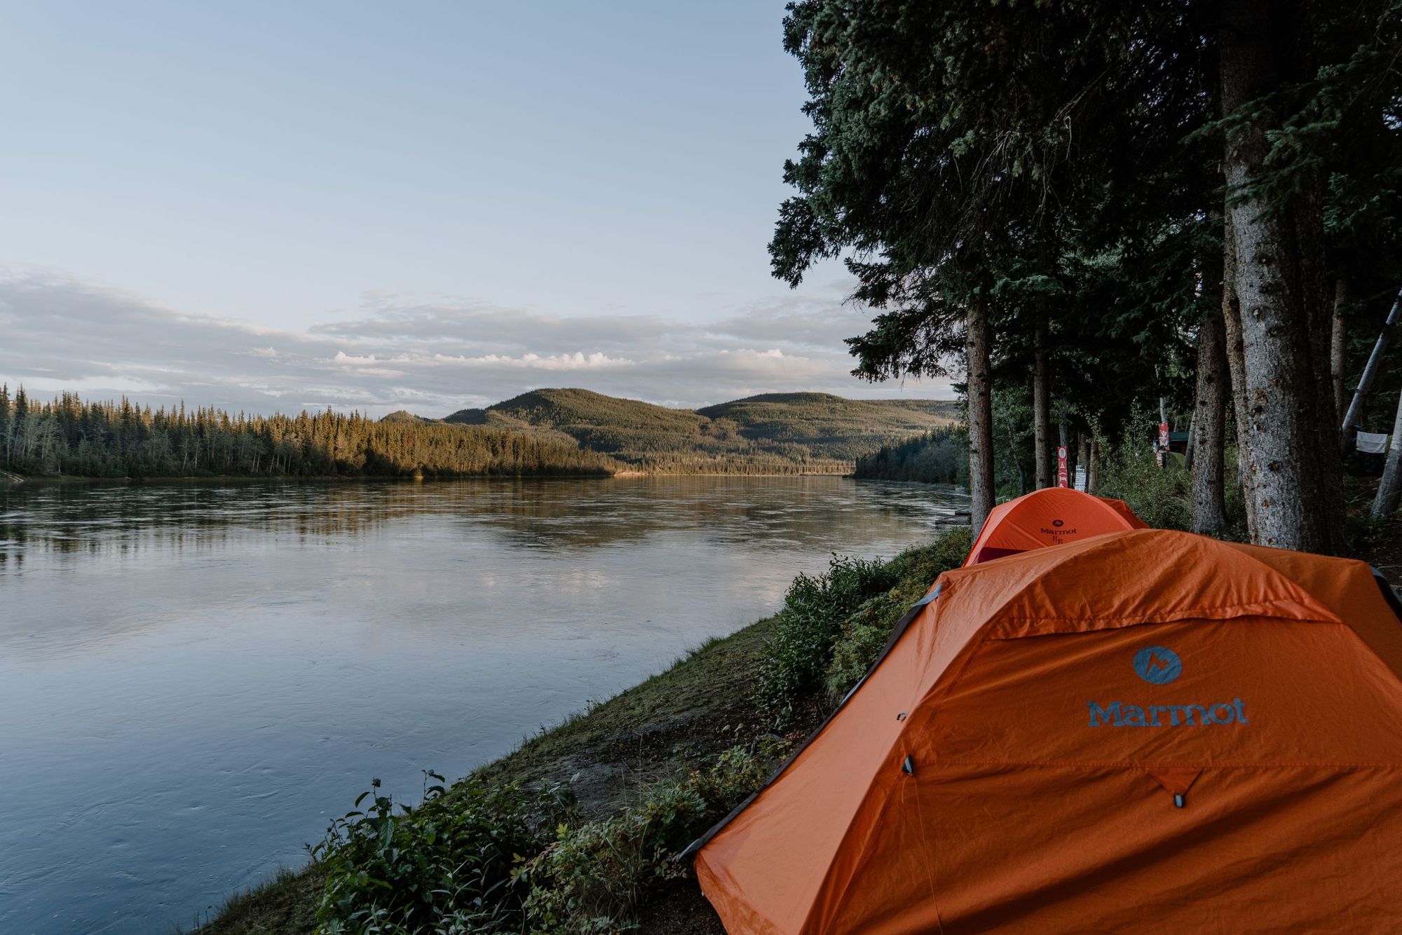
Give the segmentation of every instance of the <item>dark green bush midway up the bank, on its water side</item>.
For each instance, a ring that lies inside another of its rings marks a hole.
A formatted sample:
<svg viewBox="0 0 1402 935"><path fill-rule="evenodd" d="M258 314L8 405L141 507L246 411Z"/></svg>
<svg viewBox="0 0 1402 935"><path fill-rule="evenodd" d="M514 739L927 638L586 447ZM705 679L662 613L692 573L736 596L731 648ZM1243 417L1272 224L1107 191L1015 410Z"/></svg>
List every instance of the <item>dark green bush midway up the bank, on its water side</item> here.
<svg viewBox="0 0 1402 935"><path fill-rule="evenodd" d="M843 621L897 580L892 564L833 555L826 575L799 575L789 585L778 627L758 671L758 702L782 722L795 701L822 684Z"/></svg>

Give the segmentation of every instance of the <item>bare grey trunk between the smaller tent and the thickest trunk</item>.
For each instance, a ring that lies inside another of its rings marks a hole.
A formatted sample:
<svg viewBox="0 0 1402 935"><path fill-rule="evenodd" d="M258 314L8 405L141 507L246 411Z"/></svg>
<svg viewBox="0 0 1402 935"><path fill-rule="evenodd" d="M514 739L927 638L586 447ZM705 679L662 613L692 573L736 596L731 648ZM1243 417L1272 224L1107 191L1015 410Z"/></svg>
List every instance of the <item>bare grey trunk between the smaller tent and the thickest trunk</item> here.
<svg viewBox="0 0 1402 935"><path fill-rule="evenodd" d="M1197 394L1193 408L1193 531L1217 535L1227 528L1223 456L1227 442L1227 336L1220 314L1197 329Z"/></svg>

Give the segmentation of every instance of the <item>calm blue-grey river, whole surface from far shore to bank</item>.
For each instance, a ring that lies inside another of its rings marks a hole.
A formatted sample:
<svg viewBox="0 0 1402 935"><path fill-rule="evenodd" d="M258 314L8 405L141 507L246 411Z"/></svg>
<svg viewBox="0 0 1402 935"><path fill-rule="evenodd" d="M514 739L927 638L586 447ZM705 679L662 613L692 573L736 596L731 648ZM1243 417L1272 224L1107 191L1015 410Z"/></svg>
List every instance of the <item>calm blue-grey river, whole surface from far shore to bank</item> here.
<svg viewBox="0 0 1402 935"><path fill-rule="evenodd" d="M966 500L843 478L0 491L0 931L191 925Z"/></svg>

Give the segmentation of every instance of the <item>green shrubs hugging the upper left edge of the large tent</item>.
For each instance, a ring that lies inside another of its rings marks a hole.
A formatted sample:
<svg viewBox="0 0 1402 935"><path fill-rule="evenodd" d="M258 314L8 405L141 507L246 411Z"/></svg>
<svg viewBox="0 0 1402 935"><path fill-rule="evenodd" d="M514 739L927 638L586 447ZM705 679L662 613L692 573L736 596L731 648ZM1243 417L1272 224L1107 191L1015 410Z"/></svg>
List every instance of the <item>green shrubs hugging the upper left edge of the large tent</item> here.
<svg viewBox="0 0 1402 935"><path fill-rule="evenodd" d="M823 678L824 687L836 697L851 691L876 662L876 656L890 639L896 625L911 604L918 601L935 579L952 568L959 568L970 548L967 526L949 530L934 545L901 552L892 562L899 576L886 593L866 600L857 613L843 621L833 648L833 659Z"/></svg>

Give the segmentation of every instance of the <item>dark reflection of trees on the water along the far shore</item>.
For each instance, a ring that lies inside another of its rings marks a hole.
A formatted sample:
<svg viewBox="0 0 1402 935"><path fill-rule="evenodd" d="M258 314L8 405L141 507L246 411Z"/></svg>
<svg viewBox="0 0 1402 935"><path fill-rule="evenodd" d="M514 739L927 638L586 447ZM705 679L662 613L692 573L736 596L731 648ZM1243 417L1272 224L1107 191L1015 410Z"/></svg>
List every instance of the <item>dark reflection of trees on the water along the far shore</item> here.
<svg viewBox="0 0 1402 935"><path fill-rule="evenodd" d="M806 481L806 482L805 482ZM426 482L27 484L0 488L0 571L27 554L95 555L210 550L250 533L313 545L391 523L449 519L495 533L506 548L607 547L667 528L715 541L774 535L784 544L830 531L841 478L625 477ZM857 485L848 509L892 521L939 521L956 492ZM934 495L932 495L934 493Z"/></svg>

